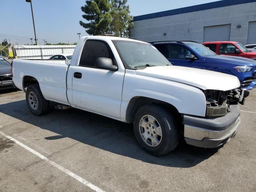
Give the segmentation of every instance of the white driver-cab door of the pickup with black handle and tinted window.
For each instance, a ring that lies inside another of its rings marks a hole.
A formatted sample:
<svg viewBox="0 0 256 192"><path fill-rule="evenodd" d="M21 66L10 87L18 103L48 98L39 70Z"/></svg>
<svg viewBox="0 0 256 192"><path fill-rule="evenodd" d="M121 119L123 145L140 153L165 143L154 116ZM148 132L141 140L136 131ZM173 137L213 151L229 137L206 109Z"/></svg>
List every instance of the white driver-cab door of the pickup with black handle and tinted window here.
<svg viewBox="0 0 256 192"><path fill-rule="evenodd" d="M102 40L87 40L72 77L72 98L76 108L120 119L124 69L110 71L95 68L97 58L112 59L110 46Z"/></svg>

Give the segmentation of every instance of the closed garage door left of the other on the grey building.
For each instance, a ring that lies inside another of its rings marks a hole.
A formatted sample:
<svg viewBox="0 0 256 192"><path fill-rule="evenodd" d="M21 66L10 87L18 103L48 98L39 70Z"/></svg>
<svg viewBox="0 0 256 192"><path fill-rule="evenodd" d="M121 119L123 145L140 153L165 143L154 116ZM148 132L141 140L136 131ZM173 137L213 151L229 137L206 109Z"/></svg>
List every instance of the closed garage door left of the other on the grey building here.
<svg viewBox="0 0 256 192"><path fill-rule="evenodd" d="M229 41L231 24L204 27L204 42Z"/></svg>

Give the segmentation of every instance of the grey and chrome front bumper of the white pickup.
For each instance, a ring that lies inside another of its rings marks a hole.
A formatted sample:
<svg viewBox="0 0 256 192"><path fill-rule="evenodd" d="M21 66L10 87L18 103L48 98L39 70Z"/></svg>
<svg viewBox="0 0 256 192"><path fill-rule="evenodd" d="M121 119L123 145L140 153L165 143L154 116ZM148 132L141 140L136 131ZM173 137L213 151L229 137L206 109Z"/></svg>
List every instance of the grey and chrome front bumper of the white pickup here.
<svg viewBox="0 0 256 192"><path fill-rule="evenodd" d="M184 115L184 138L187 144L215 148L233 138L240 125L240 107L231 105L226 116L198 118Z"/></svg>

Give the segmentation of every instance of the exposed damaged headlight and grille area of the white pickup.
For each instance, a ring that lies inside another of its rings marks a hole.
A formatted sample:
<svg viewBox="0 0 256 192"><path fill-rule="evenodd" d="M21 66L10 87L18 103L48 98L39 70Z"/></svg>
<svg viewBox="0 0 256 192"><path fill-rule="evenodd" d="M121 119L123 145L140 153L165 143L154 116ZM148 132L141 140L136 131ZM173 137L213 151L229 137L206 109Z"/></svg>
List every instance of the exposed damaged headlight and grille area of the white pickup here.
<svg viewBox="0 0 256 192"><path fill-rule="evenodd" d="M205 90L206 116L225 116L230 112L230 105L244 104L244 90L234 89L229 91Z"/></svg>

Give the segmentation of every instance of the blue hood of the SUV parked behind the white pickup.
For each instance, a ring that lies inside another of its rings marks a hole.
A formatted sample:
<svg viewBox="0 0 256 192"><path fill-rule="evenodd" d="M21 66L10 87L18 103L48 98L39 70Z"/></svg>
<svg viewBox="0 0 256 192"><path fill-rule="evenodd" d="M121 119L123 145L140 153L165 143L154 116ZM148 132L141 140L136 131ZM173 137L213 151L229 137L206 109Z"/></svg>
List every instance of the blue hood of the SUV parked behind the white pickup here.
<svg viewBox="0 0 256 192"><path fill-rule="evenodd" d="M204 58L205 61L212 62L214 59L215 62L221 62L221 63L230 63L234 64L236 66L256 66L256 61L244 57L237 57L237 56L228 56L228 55L215 55L215 56L209 56Z"/></svg>

